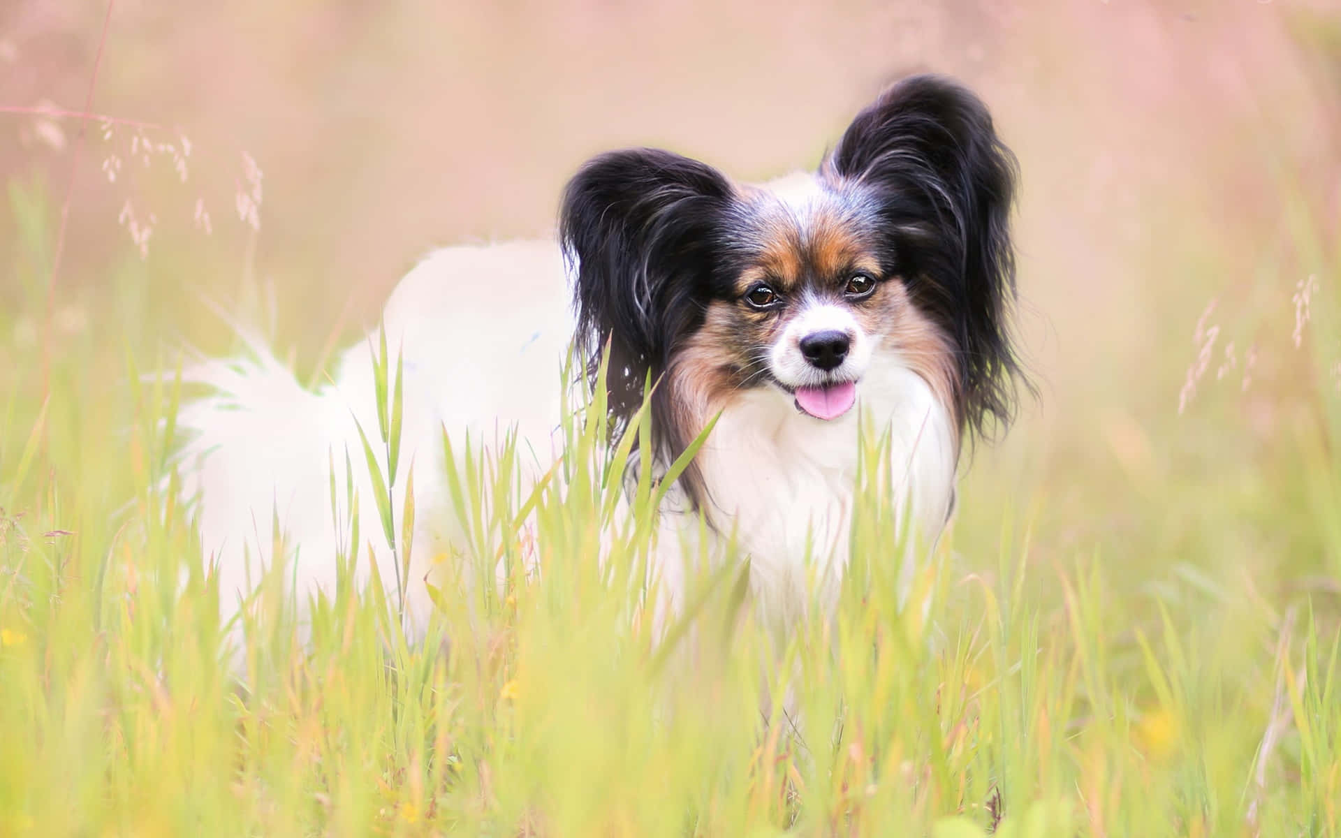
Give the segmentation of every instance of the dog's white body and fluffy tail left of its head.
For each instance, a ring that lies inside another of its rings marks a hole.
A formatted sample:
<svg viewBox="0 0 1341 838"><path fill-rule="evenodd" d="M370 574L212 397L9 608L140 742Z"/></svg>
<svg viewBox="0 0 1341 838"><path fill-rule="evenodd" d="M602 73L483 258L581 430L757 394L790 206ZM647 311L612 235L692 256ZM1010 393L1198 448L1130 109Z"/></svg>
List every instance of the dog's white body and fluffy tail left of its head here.
<svg viewBox="0 0 1341 838"><path fill-rule="evenodd" d="M397 358L402 362L398 475L388 491L400 520L413 467L418 508L406 574L412 629L422 630L428 617L429 574L449 564L444 559L464 543L448 495L444 432L459 449L469 438L485 453L516 433L523 479L534 480L558 457L561 370L573 330L567 299L558 245L522 241L436 251L386 304L390 378ZM248 342L245 358L186 371L186 381L209 394L186 402L178 417L188 440L180 457L182 493L196 504L225 621L275 567L276 550L287 560L283 586L299 605L318 591L334 593L337 556L350 552L347 481L357 493L365 556L355 563L355 583L367 582L370 547L392 590L393 554L359 434L362 428L385 479L373 335L347 349L314 389L259 341Z"/></svg>

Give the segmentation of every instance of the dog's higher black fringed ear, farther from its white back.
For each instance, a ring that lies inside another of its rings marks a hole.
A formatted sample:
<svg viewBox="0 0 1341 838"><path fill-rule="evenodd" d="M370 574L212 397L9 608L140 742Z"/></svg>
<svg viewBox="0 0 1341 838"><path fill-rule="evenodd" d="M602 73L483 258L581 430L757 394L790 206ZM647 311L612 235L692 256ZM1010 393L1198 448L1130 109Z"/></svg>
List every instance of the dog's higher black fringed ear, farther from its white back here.
<svg viewBox="0 0 1341 838"><path fill-rule="evenodd" d="M1008 424L1023 381L1007 322L1016 164L987 106L949 79L907 78L853 119L825 172L874 190L909 292L957 343L960 420Z"/></svg>

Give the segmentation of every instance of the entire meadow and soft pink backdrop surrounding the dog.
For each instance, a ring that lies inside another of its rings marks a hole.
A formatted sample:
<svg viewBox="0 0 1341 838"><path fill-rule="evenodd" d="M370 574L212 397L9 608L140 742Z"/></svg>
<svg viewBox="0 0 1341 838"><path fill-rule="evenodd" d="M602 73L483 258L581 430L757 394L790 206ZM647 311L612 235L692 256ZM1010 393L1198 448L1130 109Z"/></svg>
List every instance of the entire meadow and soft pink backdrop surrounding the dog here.
<svg viewBox="0 0 1341 838"><path fill-rule="evenodd" d="M0 11L0 834L1341 834L1341 16L1081 5ZM595 404L562 496L455 476L502 589L413 645L394 581L306 644L263 591L237 676L184 347L256 323L319 382L429 245L548 235L586 154L779 174L927 62L1021 158L1039 396L908 602L872 472L833 614L775 633L709 568L653 642L654 489L613 522Z"/></svg>

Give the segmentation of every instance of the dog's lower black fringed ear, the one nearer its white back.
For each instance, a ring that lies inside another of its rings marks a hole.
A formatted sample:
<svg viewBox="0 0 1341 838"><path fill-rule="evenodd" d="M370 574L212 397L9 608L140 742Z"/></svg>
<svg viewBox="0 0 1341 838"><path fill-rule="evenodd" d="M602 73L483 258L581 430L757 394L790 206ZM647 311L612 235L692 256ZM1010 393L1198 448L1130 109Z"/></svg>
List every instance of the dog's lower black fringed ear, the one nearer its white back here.
<svg viewBox="0 0 1341 838"><path fill-rule="evenodd" d="M610 342L616 420L638 409L648 373L665 370L675 338L701 318L732 193L712 166L653 149L595 157L565 189L559 236L575 278L577 349L597 386Z"/></svg>

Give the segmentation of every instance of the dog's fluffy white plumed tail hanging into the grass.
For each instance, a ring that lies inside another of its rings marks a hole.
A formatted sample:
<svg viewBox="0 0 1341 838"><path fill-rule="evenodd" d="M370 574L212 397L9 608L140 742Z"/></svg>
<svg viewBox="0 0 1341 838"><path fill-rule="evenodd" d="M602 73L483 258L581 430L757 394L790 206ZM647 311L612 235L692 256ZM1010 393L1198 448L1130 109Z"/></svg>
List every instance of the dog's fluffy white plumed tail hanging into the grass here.
<svg viewBox="0 0 1341 838"><path fill-rule="evenodd" d="M182 371L182 383L204 393L177 414L181 495L217 574L224 621L255 598L267 573L278 573L278 587L298 603L319 591L333 597L338 556L354 552L351 507L365 534L359 540L373 546L392 590L394 559L380 536L355 425L357 418L377 441L366 347L347 353L338 370L342 379L369 381L366 396L351 402L351 387L304 387L263 341L247 334L243 339L245 355L201 361ZM361 583L370 568L366 552L359 555L354 570Z"/></svg>

